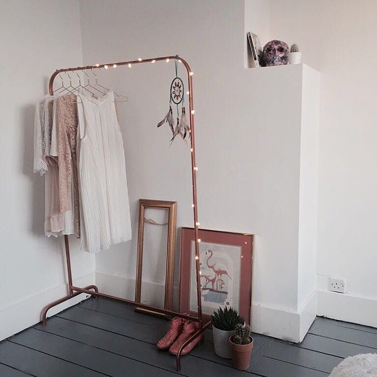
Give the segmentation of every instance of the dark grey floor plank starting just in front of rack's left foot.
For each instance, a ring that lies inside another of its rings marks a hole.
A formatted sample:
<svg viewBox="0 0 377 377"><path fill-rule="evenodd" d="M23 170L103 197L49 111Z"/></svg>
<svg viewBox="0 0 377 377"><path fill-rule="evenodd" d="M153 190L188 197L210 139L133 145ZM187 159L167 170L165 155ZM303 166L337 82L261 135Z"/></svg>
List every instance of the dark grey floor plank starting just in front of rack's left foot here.
<svg viewBox="0 0 377 377"><path fill-rule="evenodd" d="M123 377L125 371L130 377L139 375L177 376L174 372L34 328L16 335L12 341L112 377Z"/></svg>

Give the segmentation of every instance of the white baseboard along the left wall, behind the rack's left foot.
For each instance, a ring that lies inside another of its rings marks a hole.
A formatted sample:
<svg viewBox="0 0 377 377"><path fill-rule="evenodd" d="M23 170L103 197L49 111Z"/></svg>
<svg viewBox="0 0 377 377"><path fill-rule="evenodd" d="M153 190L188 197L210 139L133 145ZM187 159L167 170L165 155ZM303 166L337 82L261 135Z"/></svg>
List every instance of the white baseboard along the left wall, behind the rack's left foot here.
<svg viewBox="0 0 377 377"><path fill-rule="evenodd" d="M74 285L78 287L86 287L96 282L95 271L84 276L80 276L73 280ZM33 297L27 298L6 308L0 309L0 340L6 339L11 335L35 325L41 321L41 312L43 308L51 302L67 295L67 285L62 284L59 287L41 292ZM54 308L48 315L54 315L72 305L86 299L86 295L78 295ZM6 326L4 326L6 324Z"/></svg>

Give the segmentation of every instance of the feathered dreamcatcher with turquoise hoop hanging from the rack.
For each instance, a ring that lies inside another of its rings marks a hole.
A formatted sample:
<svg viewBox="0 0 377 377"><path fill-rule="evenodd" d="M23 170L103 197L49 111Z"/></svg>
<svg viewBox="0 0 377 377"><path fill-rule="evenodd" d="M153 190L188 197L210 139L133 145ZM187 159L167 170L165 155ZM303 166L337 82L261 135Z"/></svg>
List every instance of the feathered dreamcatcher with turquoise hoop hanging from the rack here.
<svg viewBox="0 0 377 377"><path fill-rule="evenodd" d="M190 123L189 119L186 115L186 110L184 108L184 85L183 81L180 77L178 77L178 63L177 59L174 60L175 64L175 78L171 81L170 84L170 100L169 100L169 111L165 115L164 119L157 124L157 127L161 127L164 123L167 123L170 127L171 132L173 133L173 137L171 138L171 142L173 142L175 136L178 134L184 139L189 133L190 137ZM173 117L173 104L176 106L177 109L177 116L176 116L176 125L174 126L174 117ZM181 112L179 118L179 104L181 104Z"/></svg>

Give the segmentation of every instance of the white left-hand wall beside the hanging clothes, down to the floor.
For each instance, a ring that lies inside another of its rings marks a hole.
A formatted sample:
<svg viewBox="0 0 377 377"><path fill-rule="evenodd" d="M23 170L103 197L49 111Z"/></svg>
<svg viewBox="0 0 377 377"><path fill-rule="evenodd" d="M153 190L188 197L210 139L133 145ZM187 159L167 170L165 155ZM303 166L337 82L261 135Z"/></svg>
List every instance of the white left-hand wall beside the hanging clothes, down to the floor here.
<svg viewBox="0 0 377 377"><path fill-rule="evenodd" d="M0 46L1 340L66 294L61 240L44 236L44 178L33 173L34 106L56 68L82 61L78 2L0 2ZM74 278L91 284L95 260L76 242L71 254Z"/></svg>

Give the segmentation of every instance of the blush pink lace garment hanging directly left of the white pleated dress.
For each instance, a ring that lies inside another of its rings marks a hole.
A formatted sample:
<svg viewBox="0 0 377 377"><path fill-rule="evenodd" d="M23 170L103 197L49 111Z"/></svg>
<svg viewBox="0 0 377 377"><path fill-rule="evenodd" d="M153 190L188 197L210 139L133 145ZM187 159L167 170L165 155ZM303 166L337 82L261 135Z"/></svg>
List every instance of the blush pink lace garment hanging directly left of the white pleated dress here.
<svg viewBox="0 0 377 377"><path fill-rule="evenodd" d="M57 121L60 212L73 211L74 234L79 238L80 208L76 157L77 98L75 95L68 94L57 99Z"/></svg>

